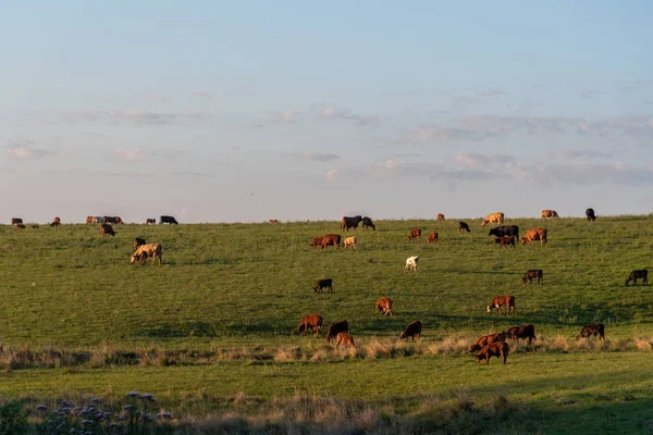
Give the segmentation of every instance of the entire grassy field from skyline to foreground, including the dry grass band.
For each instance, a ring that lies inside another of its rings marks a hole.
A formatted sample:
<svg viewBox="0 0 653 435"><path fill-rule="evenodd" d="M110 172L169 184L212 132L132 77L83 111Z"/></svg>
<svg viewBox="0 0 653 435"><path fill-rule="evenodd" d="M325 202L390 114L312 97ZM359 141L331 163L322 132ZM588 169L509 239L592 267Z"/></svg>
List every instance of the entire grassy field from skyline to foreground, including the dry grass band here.
<svg viewBox="0 0 653 435"><path fill-rule="evenodd" d="M653 268L653 216L508 220L549 231L547 246L514 249L466 221L471 234L379 221L356 231L356 250L309 247L344 235L336 222L118 225L107 238L96 225L0 226L0 393L29 409L149 391L189 433L651 433L653 296L624 282ZM411 227L421 241L406 240ZM162 244L162 265L130 264L136 236ZM417 273L404 271L410 256ZM529 269L544 285L521 285ZM333 294L312 291L323 277ZM498 295L516 297L515 315L485 312ZM381 296L392 318L374 314ZM357 349L293 334L313 312L347 320ZM414 320L421 343L397 343ZM604 344L576 340L595 322ZM470 339L523 323L538 340L507 365L466 355ZM326 399L331 418L313 412ZM284 420L291 408L301 415Z"/></svg>

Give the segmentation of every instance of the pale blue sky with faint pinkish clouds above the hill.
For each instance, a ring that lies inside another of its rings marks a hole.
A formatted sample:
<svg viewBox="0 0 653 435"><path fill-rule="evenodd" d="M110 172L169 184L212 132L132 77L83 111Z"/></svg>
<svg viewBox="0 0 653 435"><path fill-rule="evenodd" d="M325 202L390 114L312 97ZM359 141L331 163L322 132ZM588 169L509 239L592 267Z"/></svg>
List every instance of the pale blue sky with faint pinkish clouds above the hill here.
<svg viewBox="0 0 653 435"><path fill-rule="evenodd" d="M10 2L0 223L650 213L651 16L637 0Z"/></svg>

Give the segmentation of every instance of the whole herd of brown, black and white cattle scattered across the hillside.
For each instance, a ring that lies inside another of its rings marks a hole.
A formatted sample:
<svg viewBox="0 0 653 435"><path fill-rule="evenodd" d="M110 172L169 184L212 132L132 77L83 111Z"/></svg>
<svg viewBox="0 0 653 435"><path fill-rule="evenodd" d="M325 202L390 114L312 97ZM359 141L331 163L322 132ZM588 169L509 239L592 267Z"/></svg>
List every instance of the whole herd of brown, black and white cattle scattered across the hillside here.
<svg viewBox="0 0 653 435"><path fill-rule="evenodd" d="M596 215L595 215L593 209L587 209L586 216L587 216L588 221L591 221L591 222L596 220ZM542 210L541 217L542 219L558 217L558 213L555 210ZM444 221L444 220L445 220L444 214L439 213L438 221ZM481 226L485 226L485 225L492 226L492 228L490 228L489 236L495 236L494 244L500 245L500 247L515 248L516 240L519 239L519 227L517 225L503 225L504 220L505 220L505 215L503 212L490 213L484 220L482 220ZM12 225L14 225L15 228L23 229L26 227L25 224L23 223L23 220L20 217L12 217L11 223L12 223ZM113 229L113 226L111 224L120 225L120 224L124 224L124 221L120 216L91 216L91 215L89 215L86 217L86 223L87 224L99 224L100 234L102 236L110 235L110 236L114 237L115 231ZM156 219L147 219L146 220L146 224L148 224L148 225L156 224L156 223L157 223ZM270 224L278 224L278 223L279 223L278 220L270 220ZM352 217L343 216L341 220L341 229L345 231L345 232L348 232L349 229L356 231L360 223L362 223L364 231L367 231L367 229L375 231L377 229L377 226L374 225L374 223L372 222L372 220L370 217L368 217L368 216L364 217L360 215L356 215L356 216L352 216ZM178 222L173 216L161 215L159 219L159 224L160 225L161 224L177 225ZM52 223L50 224L50 226L54 226L54 227L60 226L60 225L61 225L61 220L58 216L56 216L52 220ZM496 226L494 226L494 225L496 225ZM32 227L38 228L39 226L32 225ZM458 232L461 234L470 233L469 225L461 221L458 222ZM421 233L422 233L421 228L411 228L408 234L407 240L408 241L421 240ZM547 240L546 228L541 228L541 227L529 228L526 232L526 235L521 238L521 245L530 244L532 246L538 240L540 241L541 246L544 246L547 244L549 240ZM431 232L428 236L427 244L431 245L431 244L436 244L438 241L439 241L439 233ZM162 263L161 244L147 244L144 238L135 237L133 246L134 246L134 253L131 256L131 263L139 262L140 264L144 264L148 258L152 259L151 260L152 264L156 263L157 260L159 261L159 264ZM312 243L310 244L310 246L313 248L320 247L321 249L326 249L330 246L334 246L336 249L340 249L341 246L344 249L346 249L346 248L356 249L358 246L358 238L356 236L352 236L352 237L346 237L343 240L341 235L338 235L338 234L326 234L322 237L315 237L312 239ZM408 259L406 259L404 269L406 271L417 272L418 260L419 260L418 256L409 257ZM537 284L543 285L544 284L543 271L542 270L527 271L526 275L521 278L521 284L525 286L527 284L532 285L533 279L537 279ZM628 278L626 279L625 285L632 283L632 285L637 286L638 281L640 281L642 285L648 285L648 271L646 270L632 271L630 273L630 275L628 276ZM333 294L333 279L332 278L319 279L313 285L312 289L313 289L313 293L323 293L324 290L326 290L324 293ZM374 313L381 313L383 316L392 316L393 315L392 308L393 308L393 300L387 297L381 297L375 302ZM486 311L488 311L488 313L491 313L491 312L493 312L494 309L496 309L497 312L501 314L502 308L505 310L506 315L509 315L510 313L515 314L515 310L516 310L515 297L510 296L510 295L496 296L496 297L492 298L492 301L486 307ZM310 332L312 334L318 335L321 332L322 323L323 323L323 318L321 314L319 314L319 313L308 314L303 318L301 322L297 326L296 332L298 334ZM422 331L422 323L420 321L410 322L407 325L406 330L401 333L399 338L401 339L410 338L411 340L420 339L421 331ZM583 337L583 338L588 338L588 337L592 337L592 336L599 337L600 339L604 339L605 338L604 325L601 323L586 325L582 327L580 334L578 335L578 337ZM532 340L537 339L534 326L531 324L513 326L502 333L483 335L475 344L472 344L468 350L469 350L469 352L478 351L478 353L476 355L477 362L485 361L485 363L489 364L490 359L492 357L496 357L497 359L503 358L503 363L505 364L506 359L508 357L508 352L509 352L509 347L506 343L506 340L508 338L513 339L513 340L517 340L517 341L519 339L525 339L528 341L528 345L530 346ZM346 320L330 324L324 339L326 343L331 341L332 339L335 340L336 348L341 347L341 346L355 347L355 340L354 340L354 337L349 334L349 325Z"/></svg>

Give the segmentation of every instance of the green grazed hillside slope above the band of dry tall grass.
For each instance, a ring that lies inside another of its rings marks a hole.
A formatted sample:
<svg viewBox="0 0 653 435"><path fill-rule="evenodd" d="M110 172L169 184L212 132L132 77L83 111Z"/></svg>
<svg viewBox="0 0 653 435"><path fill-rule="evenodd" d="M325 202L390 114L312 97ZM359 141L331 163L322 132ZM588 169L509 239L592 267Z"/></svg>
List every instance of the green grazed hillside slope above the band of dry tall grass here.
<svg viewBox="0 0 653 435"><path fill-rule="evenodd" d="M0 339L3 346L120 348L153 345L230 347L301 343L301 316L319 312L328 325L347 320L355 338L395 337L420 320L424 339L483 334L532 323L538 335L576 335L603 322L608 337L651 335L653 297L625 287L629 272L652 266L653 217L507 220L520 233L542 226L549 245L498 248L480 220L379 221L377 232L342 232L337 222L97 225L16 231L0 227ZM407 241L410 228L422 240ZM431 231L440 241L427 245ZM356 235L358 248L309 247L328 233ZM163 265L130 264L134 237L163 246ZM417 273L404 271L419 256ZM544 285L522 286L529 269ZM653 268L651 268L653 269ZM315 281L334 279L334 294ZM488 314L493 296L514 295L515 316ZM394 316L374 302L394 300Z"/></svg>

